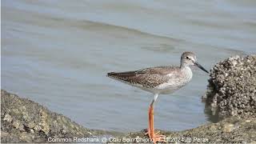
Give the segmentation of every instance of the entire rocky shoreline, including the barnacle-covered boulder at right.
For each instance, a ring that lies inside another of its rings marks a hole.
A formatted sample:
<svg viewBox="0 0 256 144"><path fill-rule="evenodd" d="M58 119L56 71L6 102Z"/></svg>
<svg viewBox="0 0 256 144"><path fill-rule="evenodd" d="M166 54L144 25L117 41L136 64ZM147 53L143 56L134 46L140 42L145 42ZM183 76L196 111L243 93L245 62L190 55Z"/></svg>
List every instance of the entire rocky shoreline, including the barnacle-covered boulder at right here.
<svg viewBox="0 0 256 144"><path fill-rule="evenodd" d="M256 143L256 55L232 57L214 66L206 91L206 109L223 118L190 130L160 131L174 143ZM122 134L90 130L62 114L1 90L1 142L131 143L150 139L145 130Z"/></svg>

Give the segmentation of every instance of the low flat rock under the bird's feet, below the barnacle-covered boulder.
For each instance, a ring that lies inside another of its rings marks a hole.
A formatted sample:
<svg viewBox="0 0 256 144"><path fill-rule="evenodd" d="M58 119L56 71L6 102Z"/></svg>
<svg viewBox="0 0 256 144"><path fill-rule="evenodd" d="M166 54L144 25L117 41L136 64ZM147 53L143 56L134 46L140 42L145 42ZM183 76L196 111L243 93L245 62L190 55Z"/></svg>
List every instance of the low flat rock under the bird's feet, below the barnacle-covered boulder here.
<svg viewBox="0 0 256 144"><path fill-rule="evenodd" d="M141 138L146 141L145 132L142 130L127 134L125 138L118 137L116 139ZM231 117L218 123L209 123L190 130L178 132L160 130L160 134L166 135L168 143L250 143L256 141L256 118Z"/></svg>

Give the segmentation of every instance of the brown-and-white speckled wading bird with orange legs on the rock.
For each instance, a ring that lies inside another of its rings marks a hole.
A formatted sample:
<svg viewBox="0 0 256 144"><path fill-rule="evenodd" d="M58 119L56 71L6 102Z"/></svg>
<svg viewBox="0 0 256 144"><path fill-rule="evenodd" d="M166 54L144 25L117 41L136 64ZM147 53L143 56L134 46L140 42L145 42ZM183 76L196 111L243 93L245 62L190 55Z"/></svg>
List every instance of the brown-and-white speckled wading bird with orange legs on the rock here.
<svg viewBox="0 0 256 144"><path fill-rule="evenodd" d="M192 79L190 66L198 66L207 74L209 72L198 62L193 52L183 52L180 66L156 66L126 72L110 72L106 76L124 82L130 86L146 90L154 95L148 110L149 126L146 134L154 143L165 142L165 135L154 132L154 104L160 94L172 94L185 86Z"/></svg>

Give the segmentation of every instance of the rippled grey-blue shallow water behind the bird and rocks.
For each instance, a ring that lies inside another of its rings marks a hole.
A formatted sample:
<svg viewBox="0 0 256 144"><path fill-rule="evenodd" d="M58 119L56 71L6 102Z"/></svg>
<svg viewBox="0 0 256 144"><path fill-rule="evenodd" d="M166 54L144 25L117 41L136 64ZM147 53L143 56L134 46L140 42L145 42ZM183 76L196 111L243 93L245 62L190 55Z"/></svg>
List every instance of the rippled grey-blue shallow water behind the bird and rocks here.
<svg viewBox="0 0 256 144"><path fill-rule="evenodd" d="M208 70L230 55L253 54L255 6L253 0L2 1L2 89L89 128L141 130L152 94L106 73L179 65L183 51L194 51ZM187 86L160 95L155 127L210 122L201 102L207 78L194 68Z"/></svg>

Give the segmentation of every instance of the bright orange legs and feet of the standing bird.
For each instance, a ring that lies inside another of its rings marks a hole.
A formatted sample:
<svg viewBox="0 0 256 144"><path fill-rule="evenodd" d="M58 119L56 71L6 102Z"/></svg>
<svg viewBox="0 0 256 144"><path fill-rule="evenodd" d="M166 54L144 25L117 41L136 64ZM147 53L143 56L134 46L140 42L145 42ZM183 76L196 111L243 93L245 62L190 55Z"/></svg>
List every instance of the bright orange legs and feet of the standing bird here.
<svg viewBox="0 0 256 144"><path fill-rule="evenodd" d="M154 133L154 106L153 102L150 104L149 108L149 128L147 133L150 137L150 139L156 143L156 142L165 142L165 136L159 135L158 133Z"/></svg>

